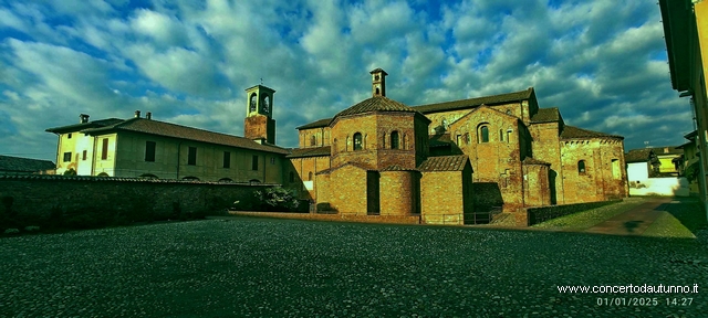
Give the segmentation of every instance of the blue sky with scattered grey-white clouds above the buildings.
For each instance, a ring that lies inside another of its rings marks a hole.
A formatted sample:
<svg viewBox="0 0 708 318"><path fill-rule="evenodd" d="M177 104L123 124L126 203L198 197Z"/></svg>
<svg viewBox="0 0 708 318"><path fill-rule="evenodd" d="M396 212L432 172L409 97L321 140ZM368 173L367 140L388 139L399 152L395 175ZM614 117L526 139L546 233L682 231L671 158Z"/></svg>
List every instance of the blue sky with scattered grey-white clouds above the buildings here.
<svg viewBox="0 0 708 318"><path fill-rule="evenodd" d="M671 89L656 1L0 0L0 155L56 160L46 128L153 118L243 136L244 89L275 141L371 97L409 106L534 87L566 125L625 151L694 130Z"/></svg>

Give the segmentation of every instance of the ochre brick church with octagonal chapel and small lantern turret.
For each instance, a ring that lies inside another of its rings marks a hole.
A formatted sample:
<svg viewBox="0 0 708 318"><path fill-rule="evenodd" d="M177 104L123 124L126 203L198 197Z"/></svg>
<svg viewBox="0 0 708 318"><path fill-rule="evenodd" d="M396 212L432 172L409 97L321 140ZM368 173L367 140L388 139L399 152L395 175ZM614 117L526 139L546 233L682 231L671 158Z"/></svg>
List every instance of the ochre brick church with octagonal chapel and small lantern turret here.
<svg viewBox="0 0 708 318"><path fill-rule="evenodd" d="M371 98L298 127L287 156L284 184L319 212L466 224L494 206L627 197L624 137L565 125L533 88L406 106L386 96L385 71L371 74Z"/></svg>

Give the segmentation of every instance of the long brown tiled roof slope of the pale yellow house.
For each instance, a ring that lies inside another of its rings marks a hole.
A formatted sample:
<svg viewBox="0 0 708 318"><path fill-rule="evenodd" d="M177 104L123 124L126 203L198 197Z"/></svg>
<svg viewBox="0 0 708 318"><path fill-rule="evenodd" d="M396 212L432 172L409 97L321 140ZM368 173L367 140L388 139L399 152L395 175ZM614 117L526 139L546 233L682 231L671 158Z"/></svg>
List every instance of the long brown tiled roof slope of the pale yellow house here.
<svg viewBox="0 0 708 318"><path fill-rule="evenodd" d="M116 130L143 132L143 134L149 134L149 135L173 137L173 138L179 138L179 139L186 139L186 140L195 140L195 141L238 147L238 148L251 149L251 150L260 150L260 151L274 152L274 153L281 153L281 155L289 153L289 151L284 148L272 146L272 145L261 145L251 139L243 138L243 137L214 132L209 130L204 130L204 129L198 129L198 128L192 128L192 127L187 127L187 126L181 126L181 125L176 125L176 124L170 124L170 123L165 123L165 121L159 121L154 119L146 119L146 118L131 118L115 125L101 127L101 128L88 128L82 131L87 134L102 134L102 132L110 132L110 131L116 131Z"/></svg>

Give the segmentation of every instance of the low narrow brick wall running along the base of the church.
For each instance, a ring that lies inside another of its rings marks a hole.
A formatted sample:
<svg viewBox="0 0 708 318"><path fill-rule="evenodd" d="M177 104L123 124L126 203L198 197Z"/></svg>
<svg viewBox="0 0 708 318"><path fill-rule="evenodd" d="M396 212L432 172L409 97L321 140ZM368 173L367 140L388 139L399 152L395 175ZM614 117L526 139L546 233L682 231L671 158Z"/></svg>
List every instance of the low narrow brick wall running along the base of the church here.
<svg viewBox="0 0 708 318"><path fill-rule="evenodd" d="M339 221L339 222L362 222L362 223L395 223L395 224L420 224L420 216L400 215L356 215L351 213L320 214L320 213L288 213L288 212L252 212L252 211L230 211L231 215L299 219L313 221Z"/></svg>

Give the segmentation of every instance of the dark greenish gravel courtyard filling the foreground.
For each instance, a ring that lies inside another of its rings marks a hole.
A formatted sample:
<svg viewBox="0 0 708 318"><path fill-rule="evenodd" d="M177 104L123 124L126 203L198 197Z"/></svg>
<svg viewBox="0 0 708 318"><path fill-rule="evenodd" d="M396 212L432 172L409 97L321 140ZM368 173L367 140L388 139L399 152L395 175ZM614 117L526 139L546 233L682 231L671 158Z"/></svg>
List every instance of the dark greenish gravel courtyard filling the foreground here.
<svg viewBox="0 0 708 318"><path fill-rule="evenodd" d="M705 317L706 232L239 218L25 235L0 240L0 317ZM558 289L628 284L699 293ZM657 303L631 304L638 297Z"/></svg>

